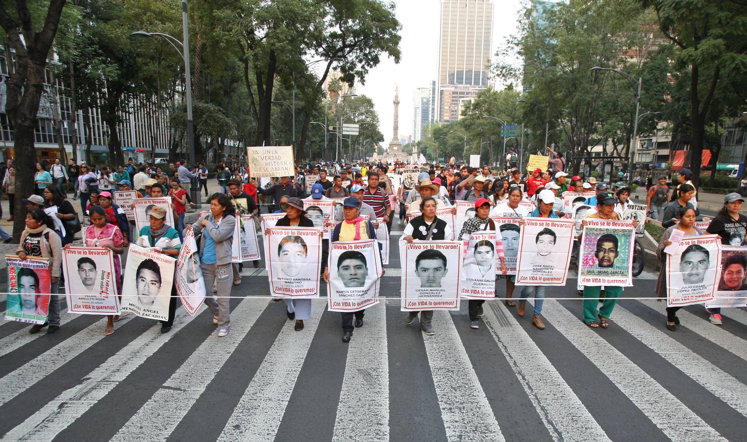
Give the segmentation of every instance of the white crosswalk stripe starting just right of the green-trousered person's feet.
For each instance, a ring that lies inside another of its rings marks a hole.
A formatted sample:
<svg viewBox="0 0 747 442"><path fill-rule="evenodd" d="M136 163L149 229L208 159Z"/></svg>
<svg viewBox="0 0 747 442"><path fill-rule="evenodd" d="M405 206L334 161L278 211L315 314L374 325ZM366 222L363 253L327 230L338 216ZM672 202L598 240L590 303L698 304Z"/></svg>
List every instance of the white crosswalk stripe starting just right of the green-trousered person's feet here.
<svg viewBox="0 0 747 442"><path fill-rule="evenodd" d="M731 408L747 415L747 385L711 364L675 338L669 337L663 329L651 326L625 308L618 308L615 320L628 333Z"/></svg>

